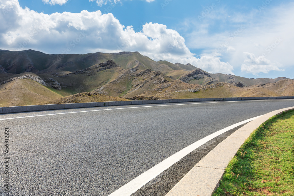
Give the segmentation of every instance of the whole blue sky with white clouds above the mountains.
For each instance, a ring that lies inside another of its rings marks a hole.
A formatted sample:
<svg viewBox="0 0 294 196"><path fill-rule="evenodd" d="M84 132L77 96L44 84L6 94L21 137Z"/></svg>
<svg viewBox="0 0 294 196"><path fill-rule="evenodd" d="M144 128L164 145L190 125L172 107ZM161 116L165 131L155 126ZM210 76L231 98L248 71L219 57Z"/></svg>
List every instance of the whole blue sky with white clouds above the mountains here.
<svg viewBox="0 0 294 196"><path fill-rule="evenodd" d="M290 0L0 0L0 49L138 51L209 73L294 78Z"/></svg>

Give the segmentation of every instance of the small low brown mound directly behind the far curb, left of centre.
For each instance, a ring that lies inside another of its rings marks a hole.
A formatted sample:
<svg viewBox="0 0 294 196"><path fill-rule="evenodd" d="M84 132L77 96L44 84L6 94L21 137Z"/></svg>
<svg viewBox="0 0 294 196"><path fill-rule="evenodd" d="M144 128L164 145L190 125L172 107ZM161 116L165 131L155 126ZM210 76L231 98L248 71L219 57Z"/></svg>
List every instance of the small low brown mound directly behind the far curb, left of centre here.
<svg viewBox="0 0 294 196"><path fill-rule="evenodd" d="M89 102L103 102L103 101L128 101L128 99L120 97L111 97L101 95L99 93L77 93L75 95L45 101L34 105L45 105L45 104L60 104L60 103L89 103Z"/></svg>

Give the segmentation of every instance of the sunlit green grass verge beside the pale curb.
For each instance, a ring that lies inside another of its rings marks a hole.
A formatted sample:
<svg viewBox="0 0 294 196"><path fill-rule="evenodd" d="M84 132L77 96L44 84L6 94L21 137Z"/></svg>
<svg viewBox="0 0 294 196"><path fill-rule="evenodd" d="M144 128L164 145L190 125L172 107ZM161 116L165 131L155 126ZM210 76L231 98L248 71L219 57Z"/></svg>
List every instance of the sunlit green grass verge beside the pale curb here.
<svg viewBox="0 0 294 196"><path fill-rule="evenodd" d="M238 150L213 196L294 195L294 111L270 118Z"/></svg>

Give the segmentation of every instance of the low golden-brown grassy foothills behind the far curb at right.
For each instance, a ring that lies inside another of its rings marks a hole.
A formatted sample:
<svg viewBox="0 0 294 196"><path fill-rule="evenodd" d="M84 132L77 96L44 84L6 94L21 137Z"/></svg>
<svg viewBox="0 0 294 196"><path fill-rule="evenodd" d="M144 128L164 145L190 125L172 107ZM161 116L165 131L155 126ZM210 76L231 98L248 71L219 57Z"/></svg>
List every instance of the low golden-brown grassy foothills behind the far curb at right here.
<svg viewBox="0 0 294 196"><path fill-rule="evenodd" d="M202 86L200 91L193 93L192 84L178 84L175 81L165 89L151 89L137 96L138 99L184 99L184 98L223 98L223 97L274 97L294 96L294 81L281 80L276 83L254 85L239 88L229 83L218 83ZM181 86L180 86L181 85ZM197 86L194 87L194 89ZM177 90L182 88L183 90Z"/></svg>

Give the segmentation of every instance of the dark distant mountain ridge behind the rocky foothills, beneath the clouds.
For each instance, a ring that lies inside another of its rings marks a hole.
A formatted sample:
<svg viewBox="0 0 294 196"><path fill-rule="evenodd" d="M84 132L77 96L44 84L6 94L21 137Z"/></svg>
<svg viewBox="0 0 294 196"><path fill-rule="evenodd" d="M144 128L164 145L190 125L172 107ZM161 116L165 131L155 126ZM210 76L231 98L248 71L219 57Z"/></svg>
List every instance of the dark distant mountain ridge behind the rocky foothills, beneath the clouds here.
<svg viewBox="0 0 294 196"><path fill-rule="evenodd" d="M7 73L19 74L23 72L46 73L50 71L79 71L90 66L113 60L122 68L129 69L138 66L140 69L151 69L164 74L175 71L191 71L192 65L184 66L172 63L153 61L138 52L120 53L89 53L89 54L45 54L34 50L0 51L0 65ZM0 71L1 71L0 67ZM184 67L184 68L182 68Z"/></svg>

